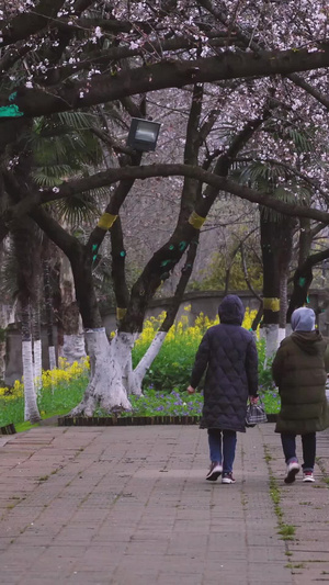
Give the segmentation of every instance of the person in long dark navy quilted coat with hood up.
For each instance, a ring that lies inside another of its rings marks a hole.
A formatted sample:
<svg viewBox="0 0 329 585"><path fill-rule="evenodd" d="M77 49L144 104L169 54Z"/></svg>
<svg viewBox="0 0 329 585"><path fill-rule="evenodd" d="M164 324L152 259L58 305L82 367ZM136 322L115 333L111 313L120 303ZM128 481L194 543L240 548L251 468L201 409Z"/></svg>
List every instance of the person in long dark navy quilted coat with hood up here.
<svg viewBox="0 0 329 585"><path fill-rule="evenodd" d="M222 475L222 483L231 484L237 431L246 432L248 398L258 402L258 352L252 333L241 327L245 307L239 296L225 296L218 314L220 324L211 327L200 344L188 392L195 392L206 372L200 424L208 432L206 480Z"/></svg>

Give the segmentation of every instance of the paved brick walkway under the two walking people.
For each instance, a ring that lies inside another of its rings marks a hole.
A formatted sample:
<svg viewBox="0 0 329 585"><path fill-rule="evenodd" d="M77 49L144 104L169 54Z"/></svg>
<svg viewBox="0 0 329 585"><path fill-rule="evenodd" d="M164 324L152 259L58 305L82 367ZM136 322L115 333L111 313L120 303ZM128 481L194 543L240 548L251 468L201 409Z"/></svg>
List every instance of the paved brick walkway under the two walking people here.
<svg viewBox="0 0 329 585"><path fill-rule="evenodd" d="M235 485L204 480L194 426L0 437L1 585L329 582L329 432L317 483L286 486L273 429L239 435Z"/></svg>

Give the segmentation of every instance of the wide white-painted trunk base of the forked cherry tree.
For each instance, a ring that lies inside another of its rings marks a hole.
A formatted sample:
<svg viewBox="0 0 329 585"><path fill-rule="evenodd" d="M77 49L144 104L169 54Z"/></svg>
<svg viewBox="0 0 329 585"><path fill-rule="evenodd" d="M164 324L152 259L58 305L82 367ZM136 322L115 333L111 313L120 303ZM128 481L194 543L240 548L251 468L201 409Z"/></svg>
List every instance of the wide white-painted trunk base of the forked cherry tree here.
<svg viewBox="0 0 329 585"><path fill-rule="evenodd" d="M84 335L90 357L90 381L81 403L70 414L92 416L98 406L107 413L131 410L123 378L135 336L120 333L110 344L104 328L87 329Z"/></svg>

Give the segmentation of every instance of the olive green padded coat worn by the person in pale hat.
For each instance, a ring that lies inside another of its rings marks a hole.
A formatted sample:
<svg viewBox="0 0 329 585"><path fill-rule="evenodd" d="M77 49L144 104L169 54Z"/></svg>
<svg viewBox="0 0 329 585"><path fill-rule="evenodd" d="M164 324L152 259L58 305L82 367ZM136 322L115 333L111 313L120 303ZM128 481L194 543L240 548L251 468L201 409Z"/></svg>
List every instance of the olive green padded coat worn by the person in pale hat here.
<svg viewBox="0 0 329 585"><path fill-rule="evenodd" d="M294 331L281 342L272 365L281 396L275 432L305 435L329 427L326 347L318 330Z"/></svg>

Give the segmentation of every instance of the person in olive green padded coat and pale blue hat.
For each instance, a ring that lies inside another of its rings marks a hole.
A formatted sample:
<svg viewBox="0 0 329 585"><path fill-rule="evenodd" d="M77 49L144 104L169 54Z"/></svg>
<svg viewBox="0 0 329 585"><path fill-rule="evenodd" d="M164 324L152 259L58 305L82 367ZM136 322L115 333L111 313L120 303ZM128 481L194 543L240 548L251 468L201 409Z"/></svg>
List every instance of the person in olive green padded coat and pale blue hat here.
<svg viewBox="0 0 329 585"><path fill-rule="evenodd" d="M300 470L296 457L296 435L302 436L303 481L314 482L316 432L329 427L325 365L327 341L315 329L311 308L294 311L291 324L293 334L281 342L272 365L281 397L275 432L281 434L287 465L285 483L293 483Z"/></svg>

